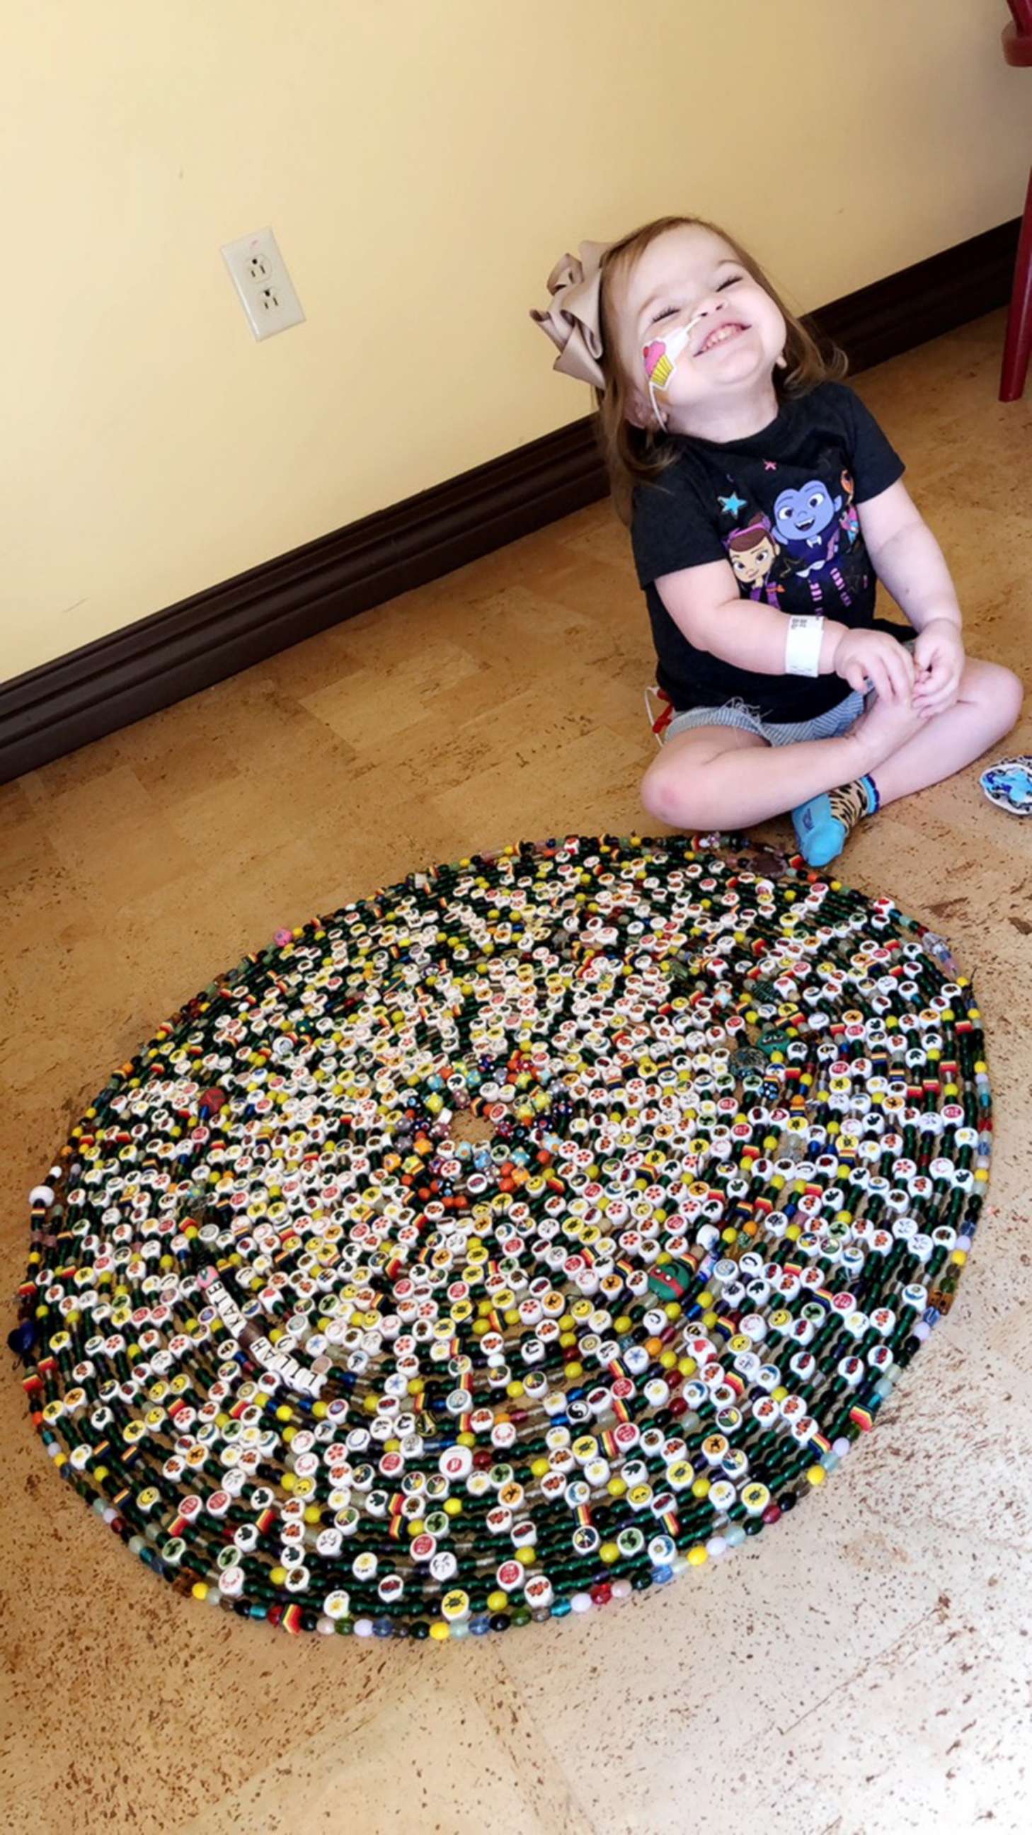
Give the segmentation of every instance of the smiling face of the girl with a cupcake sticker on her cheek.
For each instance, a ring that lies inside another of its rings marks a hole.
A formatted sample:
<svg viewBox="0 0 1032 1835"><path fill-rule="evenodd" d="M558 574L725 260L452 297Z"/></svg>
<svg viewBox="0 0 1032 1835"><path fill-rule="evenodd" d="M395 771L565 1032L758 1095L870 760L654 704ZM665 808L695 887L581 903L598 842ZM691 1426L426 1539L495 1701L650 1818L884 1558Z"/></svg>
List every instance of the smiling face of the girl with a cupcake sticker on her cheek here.
<svg viewBox="0 0 1032 1835"><path fill-rule="evenodd" d="M779 306L735 250L701 224L657 237L615 286L619 361L634 382L635 418L654 426L648 376L674 433L711 433L722 418L755 406L771 418L773 367L784 349ZM679 332L687 330L681 343ZM681 343L674 367L656 369L661 339ZM646 356L648 352L648 367ZM657 378L665 376L661 384ZM731 429L736 431L736 429Z"/></svg>

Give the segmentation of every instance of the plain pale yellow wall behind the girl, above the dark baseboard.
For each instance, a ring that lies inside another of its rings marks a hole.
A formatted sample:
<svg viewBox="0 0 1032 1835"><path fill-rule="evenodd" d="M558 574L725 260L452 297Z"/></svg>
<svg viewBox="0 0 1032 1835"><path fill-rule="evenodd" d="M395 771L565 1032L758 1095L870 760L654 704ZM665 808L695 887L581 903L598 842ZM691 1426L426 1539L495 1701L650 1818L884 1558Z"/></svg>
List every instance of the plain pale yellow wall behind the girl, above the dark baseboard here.
<svg viewBox="0 0 1032 1835"><path fill-rule="evenodd" d="M575 420L580 237L724 218L802 308L1021 207L995 0L6 0L0 673ZM272 224L307 325L219 248Z"/></svg>

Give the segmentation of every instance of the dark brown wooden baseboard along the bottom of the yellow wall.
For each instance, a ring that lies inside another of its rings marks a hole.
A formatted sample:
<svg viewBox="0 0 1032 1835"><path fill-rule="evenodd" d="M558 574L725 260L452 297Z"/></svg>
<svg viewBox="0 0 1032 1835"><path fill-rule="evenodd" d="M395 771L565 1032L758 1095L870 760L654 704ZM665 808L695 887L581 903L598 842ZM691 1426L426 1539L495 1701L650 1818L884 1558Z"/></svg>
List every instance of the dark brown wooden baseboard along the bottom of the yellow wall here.
<svg viewBox="0 0 1032 1835"><path fill-rule="evenodd" d="M1019 218L836 299L854 371L1006 303ZM606 494L591 418L195 593L0 688L0 784Z"/></svg>

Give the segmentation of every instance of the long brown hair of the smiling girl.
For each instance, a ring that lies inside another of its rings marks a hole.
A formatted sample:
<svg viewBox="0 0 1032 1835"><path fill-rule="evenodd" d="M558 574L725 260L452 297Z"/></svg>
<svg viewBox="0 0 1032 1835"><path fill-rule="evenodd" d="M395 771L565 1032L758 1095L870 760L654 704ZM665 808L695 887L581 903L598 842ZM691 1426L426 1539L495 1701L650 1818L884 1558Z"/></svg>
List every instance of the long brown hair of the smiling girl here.
<svg viewBox="0 0 1032 1835"><path fill-rule="evenodd" d="M843 352L834 347L828 352L821 350L813 334L806 330L795 312L790 312L779 297L764 270L753 261L751 255L746 253L742 244L736 242L733 235L727 235L725 229L720 229L718 224L705 222L703 217L657 217L654 222L643 224L641 229L634 229L630 235L623 237L621 242L613 242L613 246L602 255L600 330L602 374L606 378L606 387L595 389L595 404L599 409L599 440L610 470L613 503L624 523L630 523L634 486L654 483L654 479L657 479L667 466L676 461L678 448L663 431L635 428L628 420L632 382L624 374L617 356L611 297L613 281L630 273L639 255L643 255L645 250L661 235L667 235L668 229L683 228L711 229L712 235L722 237L722 240L735 251L736 261L742 262L746 273L749 273L753 281L757 281L757 284L769 294L784 317L786 367L775 371L775 389L779 393L779 400L793 395L806 395L806 391L817 387L819 382L834 382L847 373L847 360Z"/></svg>

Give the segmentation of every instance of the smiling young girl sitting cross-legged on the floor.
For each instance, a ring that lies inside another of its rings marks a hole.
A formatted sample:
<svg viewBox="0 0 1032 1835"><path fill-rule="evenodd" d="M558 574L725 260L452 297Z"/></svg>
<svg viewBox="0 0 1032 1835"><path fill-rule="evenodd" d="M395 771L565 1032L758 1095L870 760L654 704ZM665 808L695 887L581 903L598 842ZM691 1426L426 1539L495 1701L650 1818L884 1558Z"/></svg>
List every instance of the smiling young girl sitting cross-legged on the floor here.
<svg viewBox="0 0 1032 1835"><path fill-rule="evenodd" d="M595 387L672 705L652 817L735 829L791 809L824 866L861 817L1010 732L1021 683L964 655L902 461L731 237L665 217L584 242L549 292L533 317ZM913 631L874 618L876 580Z"/></svg>

